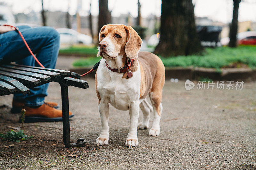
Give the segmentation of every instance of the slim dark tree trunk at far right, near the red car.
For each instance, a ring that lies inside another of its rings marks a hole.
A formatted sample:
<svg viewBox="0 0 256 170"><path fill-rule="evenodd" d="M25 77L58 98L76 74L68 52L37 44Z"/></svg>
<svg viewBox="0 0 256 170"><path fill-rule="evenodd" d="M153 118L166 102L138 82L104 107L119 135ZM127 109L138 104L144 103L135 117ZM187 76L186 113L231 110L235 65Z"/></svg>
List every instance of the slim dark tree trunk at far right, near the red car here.
<svg viewBox="0 0 256 170"><path fill-rule="evenodd" d="M238 9L239 9L239 4L241 0L233 0L233 18L232 18L232 23L230 26L230 31L229 31L229 47L236 47L236 34L237 34L237 25L238 25Z"/></svg>

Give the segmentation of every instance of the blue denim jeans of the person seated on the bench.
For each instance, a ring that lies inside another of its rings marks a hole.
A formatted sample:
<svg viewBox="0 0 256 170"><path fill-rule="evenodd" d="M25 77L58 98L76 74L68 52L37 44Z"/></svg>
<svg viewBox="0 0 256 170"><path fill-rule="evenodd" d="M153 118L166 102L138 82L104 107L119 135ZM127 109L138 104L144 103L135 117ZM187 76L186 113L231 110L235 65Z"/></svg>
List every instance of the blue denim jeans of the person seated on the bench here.
<svg viewBox="0 0 256 170"><path fill-rule="evenodd" d="M47 26L31 28L18 26L36 58L47 68L55 68L60 48L59 33ZM0 64L16 61L16 64L40 67L29 53L20 35L16 31L0 34ZM49 83L30 89L30 93L16 93L13 100L25 102L25 106L38 107L44 104Z"/></svg>

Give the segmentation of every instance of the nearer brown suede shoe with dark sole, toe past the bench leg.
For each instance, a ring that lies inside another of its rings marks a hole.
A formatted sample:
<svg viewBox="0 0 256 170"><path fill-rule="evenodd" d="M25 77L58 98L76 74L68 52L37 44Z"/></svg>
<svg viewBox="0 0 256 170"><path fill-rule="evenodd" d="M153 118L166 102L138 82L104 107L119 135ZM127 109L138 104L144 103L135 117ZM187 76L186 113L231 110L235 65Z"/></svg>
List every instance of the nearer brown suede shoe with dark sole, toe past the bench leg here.
<svg viewBox="0 0 256 170"><path fill-rule="evenodd" d="M46 103L38 108L24 106L24 109L26 110L24 123L62 121L62 110L57 110ZM69 112L69 117L73 116Z"/></svg>

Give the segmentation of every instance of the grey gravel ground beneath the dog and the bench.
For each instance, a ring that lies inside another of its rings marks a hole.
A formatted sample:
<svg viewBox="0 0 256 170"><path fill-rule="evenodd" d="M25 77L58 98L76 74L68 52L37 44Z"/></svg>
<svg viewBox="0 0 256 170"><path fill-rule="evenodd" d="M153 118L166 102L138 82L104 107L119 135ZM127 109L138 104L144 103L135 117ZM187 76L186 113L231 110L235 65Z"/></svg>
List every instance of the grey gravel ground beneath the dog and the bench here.
<svg viewBox="0 0 256 170"><path fill-rule="evenodd" d="M60 57L57 68L68 69L72 60ZM61 122L25 124L22 129L34 137L20 143L1 141L0 169L256 169L256 82L245 82L243 90L187 91L184 81L166 80L160 136L139 130L139 146L129 149L129 113L112 106L108 145L96 146L98 99L94 79L85 80L89 89L69 88L69 108L75 114L71 140L84 138L86 147L64 148ZM47 101L61 103L57 83L48 92ZM12 95L0 98L0 105L9 105L0 109L0 132L21 126L19 115L10 113L11 102ZM76 157L68 157L70 153Z"/></svg>

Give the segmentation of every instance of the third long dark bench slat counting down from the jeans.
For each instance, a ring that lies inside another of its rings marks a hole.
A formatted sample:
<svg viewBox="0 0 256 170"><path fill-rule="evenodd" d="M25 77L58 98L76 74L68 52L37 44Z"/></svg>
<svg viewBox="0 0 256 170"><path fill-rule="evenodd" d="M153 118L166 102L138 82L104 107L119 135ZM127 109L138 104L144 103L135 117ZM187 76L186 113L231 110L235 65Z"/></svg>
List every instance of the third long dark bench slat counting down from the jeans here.
<svg viewBox="0 0 256 170"><path fill-rule="evenodd" d="M5 71L5 72L10 72L10 73L21 74L21 75L28 75L29 77L39 79L40 81L43 81L43 82L51 80L50 76L43 75L43 74L38 74L38 73L31 73L31 72L20 71L20 70L13 70L13 69L3 68L3 67L0 67L0 70Z"/></svg>

